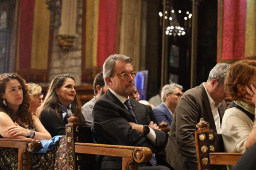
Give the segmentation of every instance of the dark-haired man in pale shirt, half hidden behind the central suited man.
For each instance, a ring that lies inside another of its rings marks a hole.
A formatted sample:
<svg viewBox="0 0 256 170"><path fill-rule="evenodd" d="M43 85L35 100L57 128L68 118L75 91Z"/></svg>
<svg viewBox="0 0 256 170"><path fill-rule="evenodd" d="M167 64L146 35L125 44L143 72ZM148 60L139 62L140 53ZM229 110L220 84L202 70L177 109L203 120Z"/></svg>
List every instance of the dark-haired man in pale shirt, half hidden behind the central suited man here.
<svg viewBox="0 0 256 170"><path fill-rule="evenodd" d="M102 72L98 73L98 75L95 76L95 79L93 81L93 91L95 94L93 99L85 103L85 105L83 105L82 107L82 113L88 126L91 126L92 124L93 105L95 104L96 100L101 97L101 95L105 94L105 92L108 91L108 88L105 86Z"/></svg>

